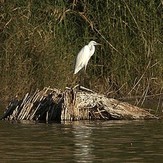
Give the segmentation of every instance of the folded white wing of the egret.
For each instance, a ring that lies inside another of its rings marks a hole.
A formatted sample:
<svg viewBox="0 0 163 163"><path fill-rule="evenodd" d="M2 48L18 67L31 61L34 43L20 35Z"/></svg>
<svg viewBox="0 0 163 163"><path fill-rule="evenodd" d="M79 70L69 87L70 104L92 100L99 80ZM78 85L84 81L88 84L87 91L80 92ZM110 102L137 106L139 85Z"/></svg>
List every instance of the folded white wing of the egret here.
<svg viewBox="0 0 163 163"><path fill-rule="evenodd" d="M80 50L77 55L74 74L78 73L78 71L84 67L86 61L89 59L88 56L89 47L86 45Z"/></svg>

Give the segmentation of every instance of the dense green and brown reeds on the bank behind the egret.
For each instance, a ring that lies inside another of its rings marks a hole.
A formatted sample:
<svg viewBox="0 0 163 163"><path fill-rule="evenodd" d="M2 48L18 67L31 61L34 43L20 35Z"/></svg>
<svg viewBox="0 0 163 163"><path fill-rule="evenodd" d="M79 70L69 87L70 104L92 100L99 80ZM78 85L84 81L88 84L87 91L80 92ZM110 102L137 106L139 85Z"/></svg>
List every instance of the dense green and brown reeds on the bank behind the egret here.
<svg viewBox="0 0 163 163"><path fill-rule="evenodd" d="M91 89L110 96L161 93L161 0L0 0L0 97L74 86L77 53L102 44L87 68Z"/></svg>

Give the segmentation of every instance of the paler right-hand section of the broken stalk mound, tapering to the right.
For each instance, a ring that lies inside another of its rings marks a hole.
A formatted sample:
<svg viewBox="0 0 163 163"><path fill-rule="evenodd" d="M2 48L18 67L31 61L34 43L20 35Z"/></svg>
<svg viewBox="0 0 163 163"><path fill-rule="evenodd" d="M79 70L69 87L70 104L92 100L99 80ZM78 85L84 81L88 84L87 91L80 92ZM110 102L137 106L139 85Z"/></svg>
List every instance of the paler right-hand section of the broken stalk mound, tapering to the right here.
<svg viewBox="0 0 163 163"><path fill-rule="evenodd" d="M72 90L71 90L72 92ZM74 119L155 119L155 115L145 109L121 102L104 95L87 91L73 91L73 97L65 105L73 113Z"/></svg>

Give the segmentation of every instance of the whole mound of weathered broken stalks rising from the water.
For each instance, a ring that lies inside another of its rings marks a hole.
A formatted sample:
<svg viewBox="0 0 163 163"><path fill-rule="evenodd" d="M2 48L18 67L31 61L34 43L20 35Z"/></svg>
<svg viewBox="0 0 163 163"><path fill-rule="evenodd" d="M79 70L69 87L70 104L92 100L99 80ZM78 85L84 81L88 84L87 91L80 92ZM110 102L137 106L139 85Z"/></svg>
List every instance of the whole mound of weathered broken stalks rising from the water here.
<svg viewBox="0 0 163 163"><path fill-rule="evenodd" d="M2 120L72 121L72 120L142 120L158 119L145 109L97 94L82 86L52 88L27 93L12 100Z"/></svg>

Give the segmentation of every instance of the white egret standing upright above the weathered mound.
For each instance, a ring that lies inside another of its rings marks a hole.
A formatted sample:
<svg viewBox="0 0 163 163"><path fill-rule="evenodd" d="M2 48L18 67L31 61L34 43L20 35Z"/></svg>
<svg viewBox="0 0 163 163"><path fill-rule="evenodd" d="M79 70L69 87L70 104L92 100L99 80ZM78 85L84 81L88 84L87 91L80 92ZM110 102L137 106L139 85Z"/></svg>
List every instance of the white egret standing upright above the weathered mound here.
<svg viewBox="0 0 163 163"><path fill-rule="evenodd" d="M74 74L77 74L83 67L85 70L87 68L88 61L95 52L95 45L101 45L95 41L90 41L88 45L85 45L77 55L75 71Z"/></svg>

